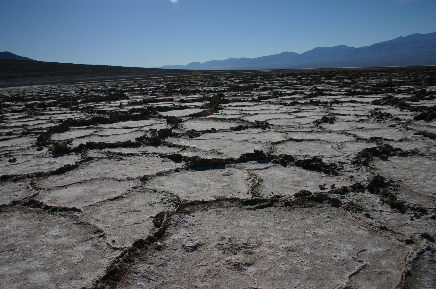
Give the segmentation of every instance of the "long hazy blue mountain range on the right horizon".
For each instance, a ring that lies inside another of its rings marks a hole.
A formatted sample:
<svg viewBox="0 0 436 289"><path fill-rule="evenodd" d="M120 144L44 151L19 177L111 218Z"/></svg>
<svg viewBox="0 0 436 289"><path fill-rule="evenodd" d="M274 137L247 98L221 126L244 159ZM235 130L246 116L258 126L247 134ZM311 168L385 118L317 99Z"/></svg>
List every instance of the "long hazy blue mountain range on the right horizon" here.
<svg viewBox="0 0 436 289"><path fill-rule="evenodd" d="M259 70L322 67L436 65L436 32L411 34L363 47L316 47L301 54L282 52L256 58L228 58L156 68Z"/></svg>

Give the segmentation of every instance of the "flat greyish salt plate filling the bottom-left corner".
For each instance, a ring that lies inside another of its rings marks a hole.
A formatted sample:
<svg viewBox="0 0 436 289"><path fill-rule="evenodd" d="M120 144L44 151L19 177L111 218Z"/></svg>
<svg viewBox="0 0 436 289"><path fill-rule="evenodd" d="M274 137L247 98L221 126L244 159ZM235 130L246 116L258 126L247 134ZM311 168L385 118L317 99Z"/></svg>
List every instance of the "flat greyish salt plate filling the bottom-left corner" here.
<svg viewBox="0 0 436 289"><path fill-rule="evenodd" d="M1 221L2 288L81 288L116 255L106 237L74 213L7 208Z"/></svg>

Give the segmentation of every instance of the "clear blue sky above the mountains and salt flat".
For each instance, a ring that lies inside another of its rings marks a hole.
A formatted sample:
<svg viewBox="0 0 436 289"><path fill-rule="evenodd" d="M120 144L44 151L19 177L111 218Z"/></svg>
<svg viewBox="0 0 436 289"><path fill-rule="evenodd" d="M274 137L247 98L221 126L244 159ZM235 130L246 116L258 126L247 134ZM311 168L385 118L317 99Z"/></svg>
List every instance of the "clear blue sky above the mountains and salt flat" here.
<svg viewBox="0 0 436 289"><path fill-rule="evenodd" d="M173 3L175 2L175 3ZM0 51L156 67L436 32L435 0L0 0Z"/></svg>

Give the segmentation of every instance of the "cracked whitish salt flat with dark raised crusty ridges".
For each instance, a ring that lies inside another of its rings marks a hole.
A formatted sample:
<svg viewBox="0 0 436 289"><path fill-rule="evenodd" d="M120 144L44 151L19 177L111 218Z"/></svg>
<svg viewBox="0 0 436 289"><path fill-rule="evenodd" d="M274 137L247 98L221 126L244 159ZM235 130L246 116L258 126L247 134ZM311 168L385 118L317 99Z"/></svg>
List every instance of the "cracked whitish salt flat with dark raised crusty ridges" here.
<svg viewBox="0 0 436 289"><path fill-rule="evenodd" d="M1 288L435 286L435 67L0 101Z"/></svg>

